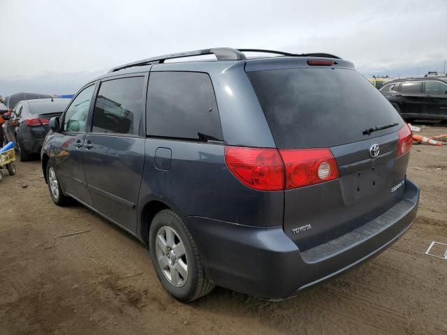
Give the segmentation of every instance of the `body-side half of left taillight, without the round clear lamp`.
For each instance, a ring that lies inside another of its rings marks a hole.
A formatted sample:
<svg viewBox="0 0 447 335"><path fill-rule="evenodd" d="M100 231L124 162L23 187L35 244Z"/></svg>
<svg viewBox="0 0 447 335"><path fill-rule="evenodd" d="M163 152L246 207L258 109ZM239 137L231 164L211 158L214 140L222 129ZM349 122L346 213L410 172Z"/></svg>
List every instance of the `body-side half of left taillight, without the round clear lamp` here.
<svg viewBox="0 0 447 335"><path fill-rule="evenodd" d="M284 189L284 165L277 149L225 147L225 162L237 179L255 190Z"/></svg>

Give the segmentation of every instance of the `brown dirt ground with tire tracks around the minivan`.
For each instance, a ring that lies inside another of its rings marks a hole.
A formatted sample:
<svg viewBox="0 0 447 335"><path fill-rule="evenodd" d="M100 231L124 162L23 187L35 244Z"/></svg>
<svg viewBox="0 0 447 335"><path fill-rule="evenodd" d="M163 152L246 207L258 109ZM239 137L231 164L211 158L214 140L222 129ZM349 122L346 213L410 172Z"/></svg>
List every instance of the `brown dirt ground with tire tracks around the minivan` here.
<svg viewBox="0 0 447 335"><path fill-rule="evenodd" d="M0 184L0 334L447 334L447 260L425 255L447 243L447 145L414 145L408 175L416 222L374 260L286 301L216 288L181 304L139 241L81 205L57 207L40 162L17 163Z"/></svg>

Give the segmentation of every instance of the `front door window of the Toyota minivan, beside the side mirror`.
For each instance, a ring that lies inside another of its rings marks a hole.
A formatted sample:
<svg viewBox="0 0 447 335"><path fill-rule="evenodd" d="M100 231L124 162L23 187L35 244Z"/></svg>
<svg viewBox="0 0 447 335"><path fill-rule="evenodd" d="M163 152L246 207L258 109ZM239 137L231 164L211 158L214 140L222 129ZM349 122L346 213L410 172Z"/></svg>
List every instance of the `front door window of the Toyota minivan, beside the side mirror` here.
<svg viewBox="0 0 447 335"><path fill-rule="evenodd" d="M64 131L74 131L76 133L87 131L87 117L94 89L95 85L85 88L68 107L64 116Z"/></svg>

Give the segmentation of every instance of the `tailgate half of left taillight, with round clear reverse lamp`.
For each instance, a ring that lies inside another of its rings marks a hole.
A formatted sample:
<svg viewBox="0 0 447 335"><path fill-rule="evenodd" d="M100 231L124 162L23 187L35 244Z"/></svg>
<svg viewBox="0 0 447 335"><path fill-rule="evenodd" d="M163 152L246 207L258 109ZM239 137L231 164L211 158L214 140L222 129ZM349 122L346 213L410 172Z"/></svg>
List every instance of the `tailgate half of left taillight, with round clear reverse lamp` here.
<svg viewBox="0 0 447 335"><path fill-rule="evenodd" d="M329 149L279 150L286 170L286 190L338 178L335 158Z"/></svg>

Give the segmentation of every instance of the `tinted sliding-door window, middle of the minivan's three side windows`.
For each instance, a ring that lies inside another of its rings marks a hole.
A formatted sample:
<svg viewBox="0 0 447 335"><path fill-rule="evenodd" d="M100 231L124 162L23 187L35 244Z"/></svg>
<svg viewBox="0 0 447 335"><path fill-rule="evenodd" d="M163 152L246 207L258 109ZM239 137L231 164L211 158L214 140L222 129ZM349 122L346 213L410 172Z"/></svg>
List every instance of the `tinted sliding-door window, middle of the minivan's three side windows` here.
<svg viewBox="0 0 447 335"><path fill-rule="evenodd" d="M102 82L96 98L91 131L142 134L144 81L145 77L127 77Z"/></svg>

